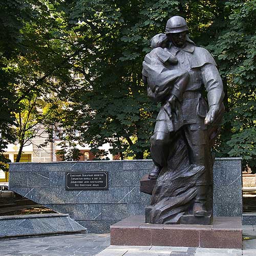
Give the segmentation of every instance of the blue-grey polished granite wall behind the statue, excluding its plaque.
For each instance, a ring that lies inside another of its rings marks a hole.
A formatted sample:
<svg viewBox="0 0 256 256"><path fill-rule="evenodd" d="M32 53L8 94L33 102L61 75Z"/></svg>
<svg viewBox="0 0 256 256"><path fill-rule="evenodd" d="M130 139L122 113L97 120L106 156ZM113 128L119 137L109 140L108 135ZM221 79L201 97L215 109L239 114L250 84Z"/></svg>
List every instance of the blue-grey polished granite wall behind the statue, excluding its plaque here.
<svg viewBox="0 0 256 256"><path fill-rule="evenodd" d="M88 232L131 215L143 215L150 196L140 193L140 178L152 160L84 161L10 164L10 189L71 218ZM66 190L66 172L109 172L109 190ZM218 158L214 165L214 215L242 216L240 158Z"/></svg>

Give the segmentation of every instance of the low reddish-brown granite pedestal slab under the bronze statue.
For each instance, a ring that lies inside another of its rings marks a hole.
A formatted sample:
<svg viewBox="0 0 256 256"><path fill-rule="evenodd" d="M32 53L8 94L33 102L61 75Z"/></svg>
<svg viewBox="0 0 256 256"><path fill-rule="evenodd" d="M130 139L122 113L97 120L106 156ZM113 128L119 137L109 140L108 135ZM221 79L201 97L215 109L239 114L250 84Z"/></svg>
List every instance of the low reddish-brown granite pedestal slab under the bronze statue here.
<svg viewBox="0 0 256 256"><path fill-rule="evenodd" d="M241 217L216 217L212 225L150 224L144 216L126 218L111 228L111 245L242 248Z"/></svg>

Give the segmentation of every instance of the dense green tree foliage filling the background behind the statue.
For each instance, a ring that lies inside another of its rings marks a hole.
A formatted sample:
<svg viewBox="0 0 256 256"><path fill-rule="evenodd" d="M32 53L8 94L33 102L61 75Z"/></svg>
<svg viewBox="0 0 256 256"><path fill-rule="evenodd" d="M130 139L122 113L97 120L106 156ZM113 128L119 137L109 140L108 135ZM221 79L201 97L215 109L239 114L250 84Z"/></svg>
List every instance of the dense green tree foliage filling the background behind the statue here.
<svg viewBox="0 0 256 256"><path fill-rule="evenodd" d="M217 156L241 156L256 171L256 0L7 0L0 13L1 148L15 139L4 127L15 124L22 99L37 96L45 98L42 123L49 132L57 122L67 141L90 144L96 153L108 142L123 158L149 158L159 106L146 97L142 61L167 19L181 15L191 39L214 55L224 81Z"/></svg>

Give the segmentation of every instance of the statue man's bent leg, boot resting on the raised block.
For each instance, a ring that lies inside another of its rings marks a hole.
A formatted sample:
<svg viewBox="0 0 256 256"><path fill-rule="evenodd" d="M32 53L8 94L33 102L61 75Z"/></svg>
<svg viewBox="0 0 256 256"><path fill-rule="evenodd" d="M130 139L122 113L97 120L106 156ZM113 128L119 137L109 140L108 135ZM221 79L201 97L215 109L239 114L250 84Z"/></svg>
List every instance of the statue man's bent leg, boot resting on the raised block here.
<svg viewBox="0 0 256 256"><path fill-rule="evenodd" d="M167 165L170 136L162 108L157 117L154 135L151 137L151 157L154 166L148 175L149 179L157 179L163 166Z"/></svg>

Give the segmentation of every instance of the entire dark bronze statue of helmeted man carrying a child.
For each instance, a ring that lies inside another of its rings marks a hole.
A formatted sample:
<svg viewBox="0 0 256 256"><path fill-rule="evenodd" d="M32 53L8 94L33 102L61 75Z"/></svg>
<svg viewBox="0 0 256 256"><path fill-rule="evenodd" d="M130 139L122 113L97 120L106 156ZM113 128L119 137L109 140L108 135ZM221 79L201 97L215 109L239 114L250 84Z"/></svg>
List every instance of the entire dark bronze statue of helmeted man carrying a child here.
<svg viewBox="0 0 256 256"><path fill-rule="evenodd" d="M148 179L157 181L146 208L150 223L209 224L212 216L211 146L224 111L223 84L214 58L187 32L183 17L171 17L143 61L148 97L161 102L151 137Z"/></svg>

